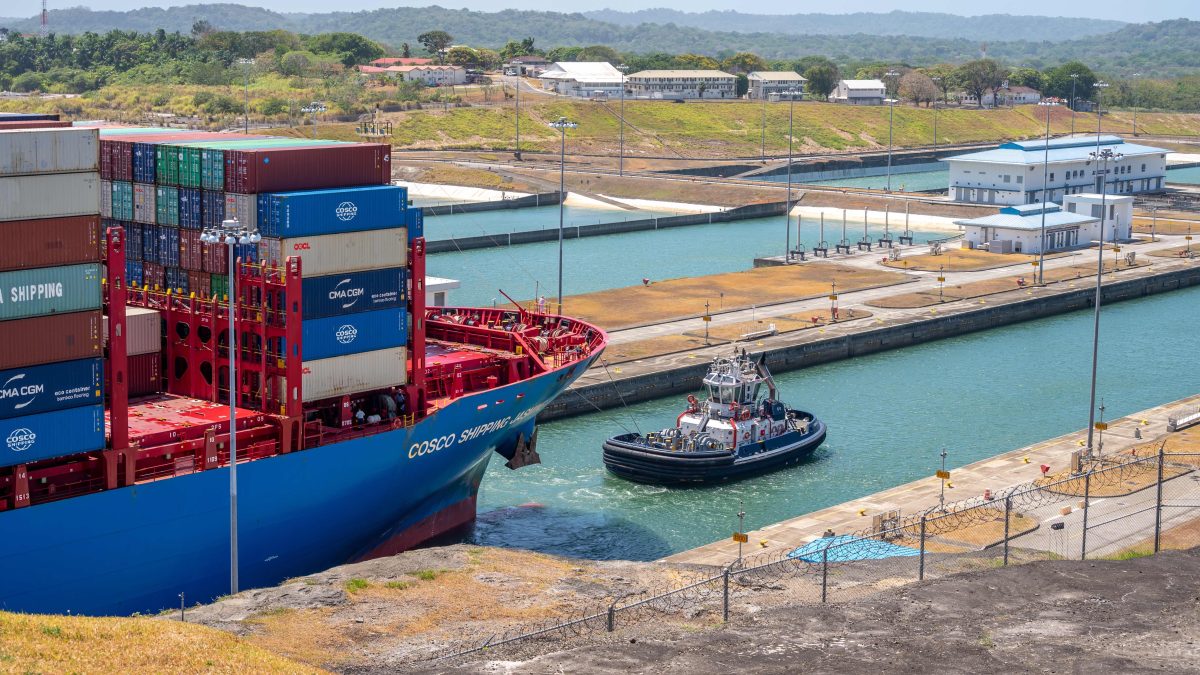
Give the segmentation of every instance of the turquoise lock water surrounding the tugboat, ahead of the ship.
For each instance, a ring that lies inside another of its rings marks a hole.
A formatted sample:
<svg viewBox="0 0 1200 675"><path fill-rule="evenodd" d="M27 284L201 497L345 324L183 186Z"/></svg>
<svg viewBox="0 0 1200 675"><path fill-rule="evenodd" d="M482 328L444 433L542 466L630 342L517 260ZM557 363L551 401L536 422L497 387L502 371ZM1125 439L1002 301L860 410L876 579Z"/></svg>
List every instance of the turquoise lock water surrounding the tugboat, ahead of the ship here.
<svg viewBox="0 0 1200 675"><path fill-rule="evenodd" d="M1200 392L1198 306L1200 288L1104 309L1097 390L1105 419ZM544 424L544 464L491 464L472 539L653 560L728 537L739 502L746 527L762 527L932 476L943 447L948 465L961 466L1082 429L1091 336L1092 313L1079 311L780 374L781 399L824 419L828 440L806 464L716 488L626 483L600 461L605 437L673 423L684 396Z"/></svg>

